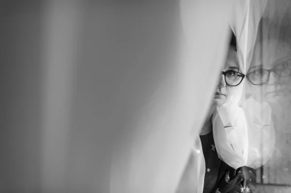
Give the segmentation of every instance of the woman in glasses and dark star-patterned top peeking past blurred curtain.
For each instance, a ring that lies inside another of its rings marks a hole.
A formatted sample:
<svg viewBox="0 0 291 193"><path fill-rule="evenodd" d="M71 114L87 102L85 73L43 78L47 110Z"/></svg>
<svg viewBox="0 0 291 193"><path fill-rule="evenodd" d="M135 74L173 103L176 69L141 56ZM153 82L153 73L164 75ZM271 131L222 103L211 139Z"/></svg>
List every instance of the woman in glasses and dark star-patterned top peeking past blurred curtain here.
<svg viewBox="0 0 291 193"><path fill-rule="evenodd" d="M216 151L216 145L220 142L219 140L214 140L213 130L216 130L217 128L213 127L212 124L213 113L216 115L219 114L217 111L219 111L221 106L231 104L232 101L239 98L238 95L241 94L240 89L242 89L241 83L244 78L244 74L240 71L240 66L237 59L236 44L233 40L229 48L223 73L219 78L219 84L214 94L213 103L200 133L206 163L203 193L238 193L244 190L242 186L242 172L222 161L224 158L221 158ZM232 127L232 125L225 126L224 130L228 127ZM237 137L239 138L241 136ZM247 138L247 134L245 134L245 138ZM244 150L247 149L247 146L243 147L245 148ZM241 156L231 159L238 159L241 162L238 167L241 167L245 164L247 159L247 151L244 151Z"/></svg>

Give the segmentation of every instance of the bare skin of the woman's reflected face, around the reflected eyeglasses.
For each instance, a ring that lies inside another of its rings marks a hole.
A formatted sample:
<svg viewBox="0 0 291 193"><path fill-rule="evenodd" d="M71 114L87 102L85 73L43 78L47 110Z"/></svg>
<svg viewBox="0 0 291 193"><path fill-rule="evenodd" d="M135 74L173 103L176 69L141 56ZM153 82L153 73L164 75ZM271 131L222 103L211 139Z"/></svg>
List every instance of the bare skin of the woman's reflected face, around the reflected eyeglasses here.
<svg viewBox="0 0 291 193"><path fill-rule="evenodd" d="M275 40L266 40L256 45L248 73L261 72L261 69L281 69L285 73L291 66L291 49L285 43ZM286 68L286 69L284 69ZM275 104L290 98L291 76L282 77L271 72L268 81L263 85L253 85L248 81L250 94L259 102Z"/></svg>

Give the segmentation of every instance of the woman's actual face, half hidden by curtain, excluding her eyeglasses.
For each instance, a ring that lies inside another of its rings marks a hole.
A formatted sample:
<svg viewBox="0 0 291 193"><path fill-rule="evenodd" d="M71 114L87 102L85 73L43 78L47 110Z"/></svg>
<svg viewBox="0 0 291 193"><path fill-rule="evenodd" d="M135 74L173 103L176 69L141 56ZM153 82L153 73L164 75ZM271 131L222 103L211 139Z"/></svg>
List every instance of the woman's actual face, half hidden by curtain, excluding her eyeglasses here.
<svg viewBox="0 0 291 193"><path fill-rule="evenodd" d="M236 50L231 46L228 52L228 56L226 59L226 64L222 71L233 70L235 72L240 72L240 67L237 58ZM240 94L239 89L241 89L242 83L239 86L232 87L226 84L225 75L221 74L219 76L219 81L217 85L217 89L214 93L213 105L222 105L226 102L237 98L238 94Z"/></svg>

